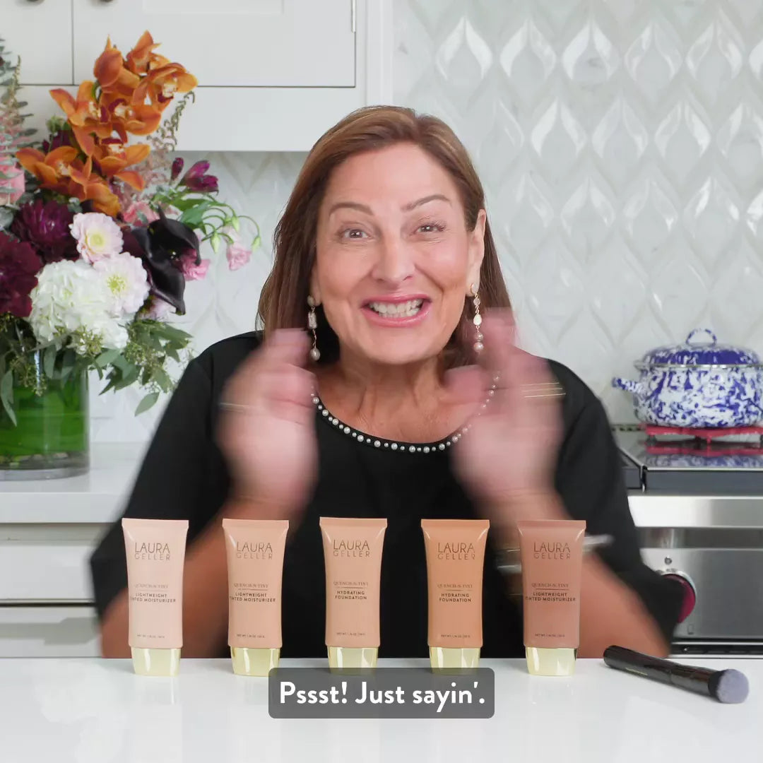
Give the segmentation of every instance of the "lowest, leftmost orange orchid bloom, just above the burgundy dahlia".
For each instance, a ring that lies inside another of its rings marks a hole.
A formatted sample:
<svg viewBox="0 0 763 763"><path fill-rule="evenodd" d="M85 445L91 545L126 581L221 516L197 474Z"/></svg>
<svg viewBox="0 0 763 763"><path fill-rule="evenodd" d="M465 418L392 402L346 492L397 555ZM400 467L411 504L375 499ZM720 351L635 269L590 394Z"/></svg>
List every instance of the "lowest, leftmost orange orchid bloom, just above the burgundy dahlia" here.
<svg viewBox="0 0 763 763"><path fill-rule="evenodd" d="M95 209L114 217L119 213L119 199L103 178L93 175L92 159L83 163L78 157L79 151L73 146L60 146L47 155L34 148L23 148L16 154L21 166L43 188L79 201L92 201Z"/></svg>

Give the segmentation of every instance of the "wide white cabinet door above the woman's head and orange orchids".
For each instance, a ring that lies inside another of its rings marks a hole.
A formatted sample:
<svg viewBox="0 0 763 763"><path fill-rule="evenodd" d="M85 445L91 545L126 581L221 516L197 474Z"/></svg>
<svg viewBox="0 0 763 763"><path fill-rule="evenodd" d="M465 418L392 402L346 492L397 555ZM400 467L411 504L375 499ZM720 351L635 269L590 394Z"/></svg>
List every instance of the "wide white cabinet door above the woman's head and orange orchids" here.
<svg viewBox="0 0 763 763"><path fill-rule="evenodd" d="M143 31L200 87L353 87L354 0L74 0L74 74Z"/></svg>

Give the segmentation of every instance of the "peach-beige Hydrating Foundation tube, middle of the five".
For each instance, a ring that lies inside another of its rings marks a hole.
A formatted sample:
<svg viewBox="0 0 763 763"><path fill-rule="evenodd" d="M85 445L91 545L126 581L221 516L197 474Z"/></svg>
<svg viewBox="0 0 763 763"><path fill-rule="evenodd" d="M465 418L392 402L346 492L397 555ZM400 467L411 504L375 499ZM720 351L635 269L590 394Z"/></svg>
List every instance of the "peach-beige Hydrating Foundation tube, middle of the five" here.
<svg viewBox="0 0 763 763"><path fill-rule="evenodd" d="M329 667L375 668L381 552L387 520L320 517L326 564Z"/></svg>

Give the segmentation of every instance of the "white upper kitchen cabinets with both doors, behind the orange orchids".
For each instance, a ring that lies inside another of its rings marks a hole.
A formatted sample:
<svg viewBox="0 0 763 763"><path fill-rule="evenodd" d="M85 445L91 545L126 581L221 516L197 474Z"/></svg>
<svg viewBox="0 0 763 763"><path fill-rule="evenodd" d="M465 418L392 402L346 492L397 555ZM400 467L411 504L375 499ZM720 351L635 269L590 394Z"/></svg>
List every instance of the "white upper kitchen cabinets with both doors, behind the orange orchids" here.
<svg viewBox="0 0 763 763"><path fill-rule="evenodd" d="M31 16L10 26L0 16L0 34L24 53L22 71L31 59L21 92L30 127L60 114L50 86L76 92L92 78L108 37L126 54L146 30L199 82L179 151L307 151L350 111L391 102L391 0L0 2L12 4L12 19L26 5L55 11L43 33Z"/></svg>

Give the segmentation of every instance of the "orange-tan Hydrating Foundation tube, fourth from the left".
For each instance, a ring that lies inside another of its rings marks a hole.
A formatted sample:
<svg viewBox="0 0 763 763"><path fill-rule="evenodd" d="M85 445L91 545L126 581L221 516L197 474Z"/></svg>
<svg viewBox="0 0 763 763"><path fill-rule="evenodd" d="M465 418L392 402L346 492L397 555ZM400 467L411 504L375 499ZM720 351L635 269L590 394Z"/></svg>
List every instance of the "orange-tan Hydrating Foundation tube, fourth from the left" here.
<svg viewBox="0 0 763 763"><path fill-rule="evenodd" d="M430 665L477 668L488 520L421 520L427 553Z"/></svg>

